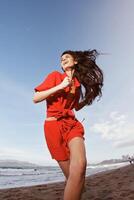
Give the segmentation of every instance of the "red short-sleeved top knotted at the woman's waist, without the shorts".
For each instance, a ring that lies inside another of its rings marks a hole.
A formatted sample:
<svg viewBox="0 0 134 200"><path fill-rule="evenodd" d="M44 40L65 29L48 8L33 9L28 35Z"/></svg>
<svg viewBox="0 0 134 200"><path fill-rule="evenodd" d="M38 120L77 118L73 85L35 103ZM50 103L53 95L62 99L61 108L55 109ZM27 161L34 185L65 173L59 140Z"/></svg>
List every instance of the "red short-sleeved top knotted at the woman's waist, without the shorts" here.
<svg viewBox="0 0 134 200"><path fill-rule="evenodd" d="M44 81L34 88L35 91L48 90L59 85L67 76L66 73L61 74L58 71L51 72ZM70 87L66 87L57 91L55 94L47 97L47 117L74 116L73 108L80 98L80 83L76 77L73 78L75 86L75 94L71 94Z"/></svg>

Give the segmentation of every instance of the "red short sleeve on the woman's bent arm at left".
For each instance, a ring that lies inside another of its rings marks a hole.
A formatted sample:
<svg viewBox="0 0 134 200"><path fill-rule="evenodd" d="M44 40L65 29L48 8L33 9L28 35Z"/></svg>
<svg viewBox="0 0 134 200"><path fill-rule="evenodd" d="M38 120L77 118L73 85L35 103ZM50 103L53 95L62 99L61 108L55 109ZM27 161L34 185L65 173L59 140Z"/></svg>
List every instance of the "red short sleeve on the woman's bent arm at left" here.
<svg viewBox="0 0 134 200"><path fill-rule="evenodd" d="M56 86L57 73L58 73L57 71L54 71L54 72L51 72L50 74L48 74L47 77L45 77L44 81L34 88L34 91L41 92L41 91L48 90L48 89Z"/></svg>

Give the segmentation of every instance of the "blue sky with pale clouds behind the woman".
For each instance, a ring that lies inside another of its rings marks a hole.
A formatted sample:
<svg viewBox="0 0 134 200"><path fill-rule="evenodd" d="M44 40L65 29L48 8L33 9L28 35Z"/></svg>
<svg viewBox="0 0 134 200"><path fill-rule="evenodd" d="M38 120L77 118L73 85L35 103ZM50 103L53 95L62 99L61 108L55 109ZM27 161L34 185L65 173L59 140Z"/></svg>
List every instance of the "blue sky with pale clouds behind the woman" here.
<svg viewBox="0 0 134 200"><path fill-rule="evenodd" d="M134 1L0 0L0 159L57 165L48 151L45 101L34 87L61 71L63 51L96 49L102 97L76 112L88 163L134 154ZM62 72L62 71L61 71Z"/></svg>

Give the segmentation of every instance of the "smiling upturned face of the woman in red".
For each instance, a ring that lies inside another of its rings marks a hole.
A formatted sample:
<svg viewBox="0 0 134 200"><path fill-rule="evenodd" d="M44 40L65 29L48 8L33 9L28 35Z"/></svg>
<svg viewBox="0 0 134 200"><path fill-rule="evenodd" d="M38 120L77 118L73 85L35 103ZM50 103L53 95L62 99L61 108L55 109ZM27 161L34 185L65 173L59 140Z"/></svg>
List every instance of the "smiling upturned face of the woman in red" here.
<svg viewBox="0 0 134 200"><path fill-rule="evenodd" d="M61 56L61 67L64 71L70 70L75 64L77 64L77 61L75 61L71 54L67 53Z"/></svg>

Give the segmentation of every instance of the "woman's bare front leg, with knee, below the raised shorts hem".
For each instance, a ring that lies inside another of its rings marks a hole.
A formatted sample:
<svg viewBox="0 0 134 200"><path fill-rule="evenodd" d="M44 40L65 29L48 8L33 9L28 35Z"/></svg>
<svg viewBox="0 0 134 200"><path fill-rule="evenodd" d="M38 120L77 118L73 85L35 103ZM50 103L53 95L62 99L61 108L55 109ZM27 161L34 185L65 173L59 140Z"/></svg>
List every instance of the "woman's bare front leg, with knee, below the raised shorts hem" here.
<svg viewBox="0 0 134 200"><path fill-rule="evenodd" d="M80 200L85 183L86 152L84 140L80 137L71 139L69 177L64 190L64 200Z"/></svg>

